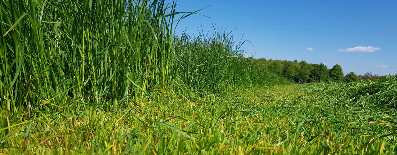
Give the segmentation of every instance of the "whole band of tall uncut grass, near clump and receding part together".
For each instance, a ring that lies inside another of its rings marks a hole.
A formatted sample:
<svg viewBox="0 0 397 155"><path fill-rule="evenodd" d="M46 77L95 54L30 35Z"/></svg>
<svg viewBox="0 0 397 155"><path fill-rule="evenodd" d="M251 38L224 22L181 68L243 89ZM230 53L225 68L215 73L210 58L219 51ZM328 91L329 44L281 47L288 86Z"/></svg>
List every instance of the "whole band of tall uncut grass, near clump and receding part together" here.
<svg viewBox="0 0 397 155"><path fill-rule="evenodd" d="M228 34L176 37L174 15L193 13L175 8L164 0L2 1L2 106L29 114L117 108L160 90L213 94L284 82L244 58L242 42Z"/></svg>

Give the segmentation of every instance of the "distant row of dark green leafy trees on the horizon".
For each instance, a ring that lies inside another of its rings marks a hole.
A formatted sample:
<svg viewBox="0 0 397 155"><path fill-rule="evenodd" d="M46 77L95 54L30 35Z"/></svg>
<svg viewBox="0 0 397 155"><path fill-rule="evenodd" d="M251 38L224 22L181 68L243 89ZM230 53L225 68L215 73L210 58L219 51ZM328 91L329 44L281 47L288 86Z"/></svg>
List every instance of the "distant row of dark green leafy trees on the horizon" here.
<svg viewBox="0 0 397 155"><path fill-rule="evenodd" d="M331 69L328 69L324 63L307 63L306 61L298 62L287 60L273 60L273 59L254 59L249 57L256 64L263 66L292 82L303 80L308 82L355 82L359 80L382 80L396 75L372 75L372 73L365 73L364 75L356 75L354 72L348 73L344 76L341 65L336 64Z"/></svg>

